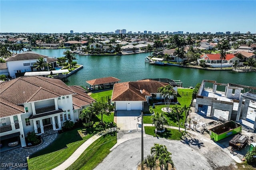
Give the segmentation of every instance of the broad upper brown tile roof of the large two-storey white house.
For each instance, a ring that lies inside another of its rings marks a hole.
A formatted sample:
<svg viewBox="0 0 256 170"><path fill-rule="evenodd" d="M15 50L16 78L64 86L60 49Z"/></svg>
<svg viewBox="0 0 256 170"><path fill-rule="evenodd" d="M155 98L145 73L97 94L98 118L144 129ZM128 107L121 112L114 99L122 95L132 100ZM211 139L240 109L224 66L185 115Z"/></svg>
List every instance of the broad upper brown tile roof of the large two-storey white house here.
<svg viewBox="0 0 256 170"><path fill-rule="evenodd" d="M68 94L74 91L64 82L41 76L19 77L0 84L0 98L16 105Z"/></svg>

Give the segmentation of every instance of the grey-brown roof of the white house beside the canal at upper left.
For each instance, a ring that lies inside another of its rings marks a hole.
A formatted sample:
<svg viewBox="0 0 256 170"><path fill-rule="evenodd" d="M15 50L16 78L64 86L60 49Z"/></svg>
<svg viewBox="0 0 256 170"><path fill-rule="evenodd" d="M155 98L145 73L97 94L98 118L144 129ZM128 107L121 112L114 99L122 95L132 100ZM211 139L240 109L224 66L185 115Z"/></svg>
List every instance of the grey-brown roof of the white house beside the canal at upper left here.
<svg viewBox="0 0 256 170"><path fill-rule="evenodd" d="M32 59L39 59L40 57L46 58L45 55L40 55L33 52L24 52L21 54L16 54L12 57L5 59L5 61L20 61L20 60L32 60Z"/></svg>

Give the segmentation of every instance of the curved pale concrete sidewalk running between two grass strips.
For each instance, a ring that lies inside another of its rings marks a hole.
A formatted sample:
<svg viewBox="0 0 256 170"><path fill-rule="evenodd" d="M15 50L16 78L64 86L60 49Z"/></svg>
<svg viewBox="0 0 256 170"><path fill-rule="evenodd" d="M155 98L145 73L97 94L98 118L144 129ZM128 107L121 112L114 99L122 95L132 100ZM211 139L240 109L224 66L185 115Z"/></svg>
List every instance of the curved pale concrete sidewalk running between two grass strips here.
<svg viewBox="0 0 256 170"><path fill-rule="evenodd" d="M76 151L67 159L65 160L62 164L54 168L53 170L65 170L68 168L71 164L73 164L79 156L86 150L94 141L102 137L103 135L116 131L116 127L112 127L110 129L106 129L105 131L101 131L97 133L96 135L93 135L90 137L87 141L85 141Z"/></svg>

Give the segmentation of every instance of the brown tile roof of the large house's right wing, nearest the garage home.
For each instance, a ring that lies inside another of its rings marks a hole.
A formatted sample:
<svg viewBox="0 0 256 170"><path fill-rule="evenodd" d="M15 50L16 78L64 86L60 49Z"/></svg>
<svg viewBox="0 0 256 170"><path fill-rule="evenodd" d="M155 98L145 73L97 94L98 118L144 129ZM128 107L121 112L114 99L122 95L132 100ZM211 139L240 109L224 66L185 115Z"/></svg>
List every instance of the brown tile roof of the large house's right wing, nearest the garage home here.
<svg viewBox="0 0 256 170"><path fill-rule="evenodd" d="M91 96L89 96L84 88L80 86L69 86L76 94L72 95L72 102L74 109L79 109L82 106L87 106L96 102Z"/></svg>

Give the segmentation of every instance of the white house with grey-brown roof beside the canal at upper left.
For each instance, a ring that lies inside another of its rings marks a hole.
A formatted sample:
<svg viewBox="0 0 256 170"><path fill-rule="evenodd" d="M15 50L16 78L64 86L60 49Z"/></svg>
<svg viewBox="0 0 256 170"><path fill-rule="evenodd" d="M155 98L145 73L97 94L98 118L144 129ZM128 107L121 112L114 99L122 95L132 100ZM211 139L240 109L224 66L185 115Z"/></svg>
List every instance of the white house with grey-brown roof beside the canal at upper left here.
<svg viewBox="0 0 256 170"><path fill-rule="evenodd" d="M57 59L40 55L32 51L26 51L5 59L9 75L12 78L16 78L16 75L22 75L19 73L36 71L36 66L34 66L34 63L36 63L40 57L43 57L46 63L51 64L51 67L49 68L54 68L57 66Z"/></svg>

